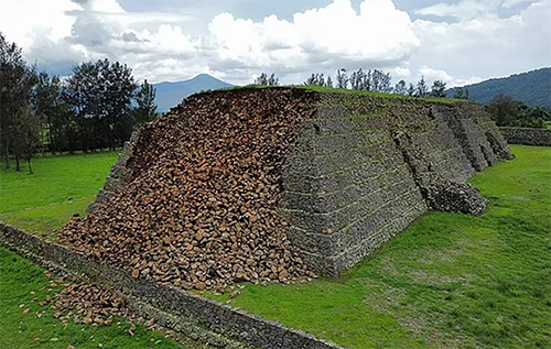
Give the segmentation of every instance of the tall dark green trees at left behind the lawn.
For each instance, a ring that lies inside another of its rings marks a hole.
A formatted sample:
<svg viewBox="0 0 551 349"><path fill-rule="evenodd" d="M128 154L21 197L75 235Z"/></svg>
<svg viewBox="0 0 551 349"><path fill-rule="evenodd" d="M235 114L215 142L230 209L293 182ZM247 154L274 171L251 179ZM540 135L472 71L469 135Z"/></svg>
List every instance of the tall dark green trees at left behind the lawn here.
<svg viewBox="0 0 551 349"><path fill-rule="evenodd" d="M66 78L37 73L0 33L0 151L21 171L36 152L116 150L156 113L155 88L109 59L73 67Z"/></svg>

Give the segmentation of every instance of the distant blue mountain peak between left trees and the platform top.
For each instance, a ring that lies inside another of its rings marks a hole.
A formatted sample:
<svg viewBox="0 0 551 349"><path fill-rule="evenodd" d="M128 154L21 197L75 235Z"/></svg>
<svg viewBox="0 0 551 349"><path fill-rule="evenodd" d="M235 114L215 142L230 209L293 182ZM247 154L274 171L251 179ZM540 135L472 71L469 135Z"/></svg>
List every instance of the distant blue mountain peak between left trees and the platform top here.
<svg viewBox="0 0 551 349"><path fill-rule="evenodd" d="M219 80L207 74L201 74L193 79L177 83L160 83L153 85L156 88L156 110L160 112L169 111L182 102L187 96L201 92L207 89L220 89L234 87L234 85Z"/></svg>

